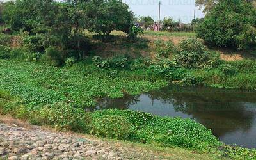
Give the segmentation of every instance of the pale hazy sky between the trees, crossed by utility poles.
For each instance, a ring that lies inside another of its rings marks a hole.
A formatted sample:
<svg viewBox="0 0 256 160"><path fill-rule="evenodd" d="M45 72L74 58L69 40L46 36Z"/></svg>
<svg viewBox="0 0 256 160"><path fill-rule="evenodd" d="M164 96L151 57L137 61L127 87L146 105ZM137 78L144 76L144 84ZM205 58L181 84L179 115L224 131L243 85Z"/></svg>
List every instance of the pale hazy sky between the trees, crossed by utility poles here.
<svg viewBox="0 0 256 160"><path fill-rule="evenodd" d="M158 20L159 0L122 0L129 5L130 10L138 16L150 16ZM195 7L195 0L161 0L161 19L172 17L174 20L180 19L184 23L193 20L194 10L196 18L204 17L202 10Z"/></svg>

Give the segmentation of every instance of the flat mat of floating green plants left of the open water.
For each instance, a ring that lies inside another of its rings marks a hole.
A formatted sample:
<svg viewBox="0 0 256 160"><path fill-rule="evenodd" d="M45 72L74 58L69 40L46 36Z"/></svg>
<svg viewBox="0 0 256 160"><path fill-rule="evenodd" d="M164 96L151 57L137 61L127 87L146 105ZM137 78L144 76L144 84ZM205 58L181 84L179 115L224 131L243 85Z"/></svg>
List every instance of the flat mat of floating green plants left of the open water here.
<svg viewBox="0 0 256 160"><path fill-rule="evenodd" d="M92 64L78 63L56 68L36 63L0 60L0 88L10 91L32 106L70 101L79 107L95 105L100 97L117 98L124 93L138 94L162 86L166 81L145 70L102 70Z"/></svg>

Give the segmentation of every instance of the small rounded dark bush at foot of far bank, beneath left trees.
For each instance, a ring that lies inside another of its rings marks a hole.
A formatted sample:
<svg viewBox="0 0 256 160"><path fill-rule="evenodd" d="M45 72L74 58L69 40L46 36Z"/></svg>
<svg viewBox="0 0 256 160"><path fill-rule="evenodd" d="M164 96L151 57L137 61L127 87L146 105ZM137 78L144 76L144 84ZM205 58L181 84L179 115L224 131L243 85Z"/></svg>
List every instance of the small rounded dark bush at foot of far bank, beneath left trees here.
<svg viewBox="0 0 256 160"><path fill-rule="evenodd" d="M46 60L55 67L63 65L63 57L56 47L48 47L45 50Z"/></svg>

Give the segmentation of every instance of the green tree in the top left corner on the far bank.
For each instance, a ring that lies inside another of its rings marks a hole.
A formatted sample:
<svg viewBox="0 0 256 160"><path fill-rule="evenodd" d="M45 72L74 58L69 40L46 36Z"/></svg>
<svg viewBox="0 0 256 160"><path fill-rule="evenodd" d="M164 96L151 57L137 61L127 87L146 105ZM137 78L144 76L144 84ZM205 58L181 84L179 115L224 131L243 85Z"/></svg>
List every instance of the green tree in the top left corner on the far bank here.
<svg viewBox="0 0 256 160"><path fill-rule="evenodd" d="M14 30L33 31L53 22L53 0L17 0L4 3L3 20Z"/></svg>

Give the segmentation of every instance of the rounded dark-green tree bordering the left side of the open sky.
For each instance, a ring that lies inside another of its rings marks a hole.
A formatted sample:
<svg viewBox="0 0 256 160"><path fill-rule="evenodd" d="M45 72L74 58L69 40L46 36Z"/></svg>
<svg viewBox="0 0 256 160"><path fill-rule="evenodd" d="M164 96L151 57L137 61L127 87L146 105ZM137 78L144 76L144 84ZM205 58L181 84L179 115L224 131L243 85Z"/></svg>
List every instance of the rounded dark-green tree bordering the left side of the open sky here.
<svg viewBox="0 0 256 160"><path fill-rule="evenodd" d="M86 3L87 28L103 35L105 38L111 31L129 32L132 12L129 6L120 0L92 0Z"/></svg>

